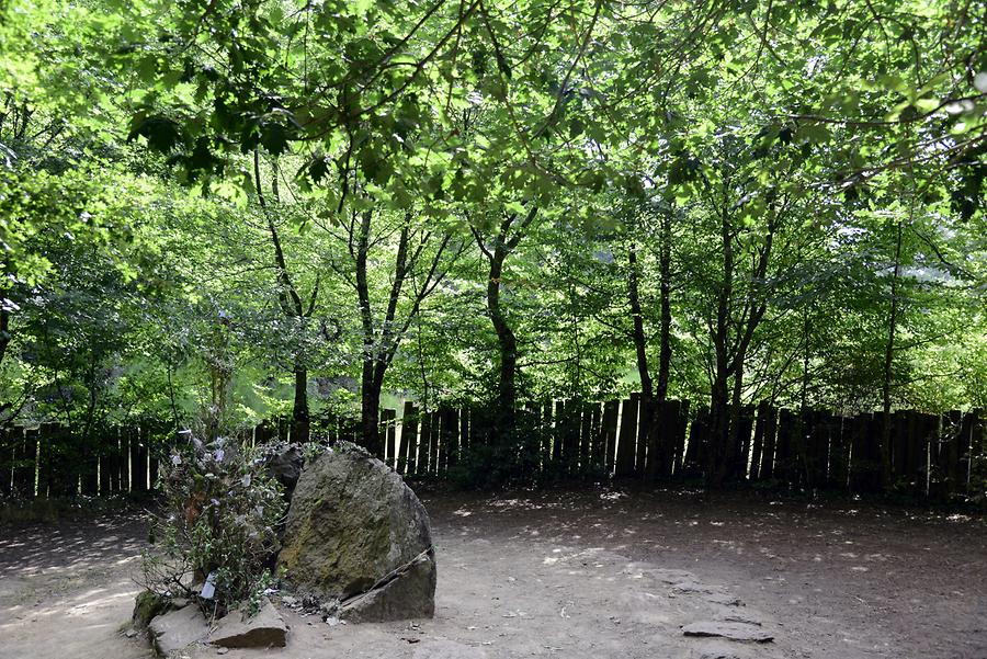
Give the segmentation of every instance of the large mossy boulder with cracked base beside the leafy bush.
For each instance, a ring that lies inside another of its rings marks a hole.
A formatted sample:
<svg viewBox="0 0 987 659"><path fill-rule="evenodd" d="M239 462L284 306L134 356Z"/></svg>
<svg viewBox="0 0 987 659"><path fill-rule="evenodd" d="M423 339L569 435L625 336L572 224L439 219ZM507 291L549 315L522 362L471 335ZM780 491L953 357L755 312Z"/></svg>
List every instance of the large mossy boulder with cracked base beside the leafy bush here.
<svg viewBox="0 0 987 659"><path fill-rule="evenodd" d="M303 469L277 564L297 592L339 600L354 622L434 614L429 515L400 476L352 444Z"/></svg>

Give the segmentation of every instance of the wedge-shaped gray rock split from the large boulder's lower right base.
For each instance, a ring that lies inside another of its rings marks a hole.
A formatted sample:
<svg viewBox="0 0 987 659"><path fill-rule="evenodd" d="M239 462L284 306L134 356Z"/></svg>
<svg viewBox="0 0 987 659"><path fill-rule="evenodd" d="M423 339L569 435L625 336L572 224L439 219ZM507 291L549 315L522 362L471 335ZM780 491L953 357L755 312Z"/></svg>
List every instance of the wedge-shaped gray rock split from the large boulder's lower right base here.
<svg viewBox="0 0 987 659"><path fill-rule="evenodd" d="M435 615L435 564L421 556L385 584L342 603L339 617L353 623L379 623Z"/></svg>

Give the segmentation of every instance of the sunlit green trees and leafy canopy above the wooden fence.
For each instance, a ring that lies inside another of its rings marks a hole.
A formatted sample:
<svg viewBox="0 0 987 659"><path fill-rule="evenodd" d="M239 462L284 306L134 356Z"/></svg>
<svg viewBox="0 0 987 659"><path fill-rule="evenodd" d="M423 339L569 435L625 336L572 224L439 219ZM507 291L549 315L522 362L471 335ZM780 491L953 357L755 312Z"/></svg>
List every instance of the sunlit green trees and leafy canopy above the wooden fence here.
<svg viewBox="0 0 987 659"><path fill-rule="evenodd" d="M985 405L977 0L0 1L0 413ZM724 453L727 452L727 453ZM490 459L497 461L491 448Z"/></svg>

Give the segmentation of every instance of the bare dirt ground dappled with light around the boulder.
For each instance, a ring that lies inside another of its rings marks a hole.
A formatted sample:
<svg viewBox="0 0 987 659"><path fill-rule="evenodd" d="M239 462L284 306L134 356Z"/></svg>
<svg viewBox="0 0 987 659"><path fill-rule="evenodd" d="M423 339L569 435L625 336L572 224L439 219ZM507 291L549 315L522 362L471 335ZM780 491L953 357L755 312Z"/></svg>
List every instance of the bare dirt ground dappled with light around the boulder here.
<svg viewBox="0 0 987 659"><path fill-rule="evenodd" d="M434 620L330 627L287 612L287 648L225 657L987 658L984 520L765 497L426 495ZM121 633L143 533L121 516L0 529L0 658L148 657ZM681 630L738 620L774 641Z"/></svg>

